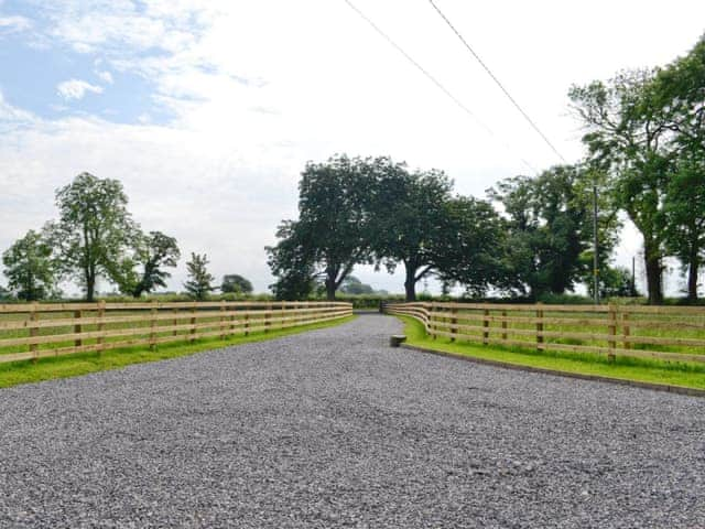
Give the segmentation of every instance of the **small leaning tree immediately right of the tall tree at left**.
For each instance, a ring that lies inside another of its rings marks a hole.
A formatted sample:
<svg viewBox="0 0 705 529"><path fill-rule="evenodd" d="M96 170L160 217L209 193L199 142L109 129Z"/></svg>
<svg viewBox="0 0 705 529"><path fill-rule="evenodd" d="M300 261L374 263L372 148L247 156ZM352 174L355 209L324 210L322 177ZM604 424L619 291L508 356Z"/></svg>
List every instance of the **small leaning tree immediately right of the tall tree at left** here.
<svg viewBox="0 0 705 529"><path fill-rule="evenodd" d="M140 298L142 293L150 293L158 287L166 288L165 280L171 278L171 273L163 270L164 267L176 267L181 251L174 237L161 231L150 231L148 235L140 235L137 238L134 256L126 264L141 267L141 272L137 273L130 268L122 277L123 284L134 298ZM126 267L126 268L127 268Z"/></svg>

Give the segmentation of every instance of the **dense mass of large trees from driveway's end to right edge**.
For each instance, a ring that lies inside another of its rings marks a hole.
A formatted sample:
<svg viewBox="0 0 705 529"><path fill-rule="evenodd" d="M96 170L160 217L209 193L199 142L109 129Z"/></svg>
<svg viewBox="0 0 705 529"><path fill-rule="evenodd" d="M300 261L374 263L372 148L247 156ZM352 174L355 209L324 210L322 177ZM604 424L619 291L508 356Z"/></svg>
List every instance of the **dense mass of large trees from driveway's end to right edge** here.
<svg viewBox="0 0 705 529"><path fill-rule="evenodd" d="M302 299L323 282L328 299L356 264L404 270L406 299L436 277L470 296L593 290L593 188L598 204L598 289L636 295L629 270L609 266L619 213L643 238L649 303L663 302L664 259L697 301L705 257L705 37L664 67L573 86L571 108L587 155L536 176L499 182L479 199L454 194L438 170L410 171L388 156L308 163L299 219L268 247L276 298ZM498 212L500 206L502 213Z"/></svg>

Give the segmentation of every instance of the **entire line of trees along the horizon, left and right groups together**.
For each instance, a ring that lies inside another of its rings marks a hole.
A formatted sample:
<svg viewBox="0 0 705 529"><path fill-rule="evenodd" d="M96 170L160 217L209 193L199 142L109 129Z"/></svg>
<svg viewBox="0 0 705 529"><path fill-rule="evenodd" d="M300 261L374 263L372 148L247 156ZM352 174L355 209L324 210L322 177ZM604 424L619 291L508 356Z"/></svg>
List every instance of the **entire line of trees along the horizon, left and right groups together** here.
<svg viewBox="0 0 705 529"><path fill-rule="evenodd" d="M664 67L628 71L574 86L571 108L585 127L587 155L535 176L500 181L485 198L454 193L440 170L410 170L389 156L310 162L302 173L299 218L283 220L267 248L276 299L302 300L359 289L357 264L404 271L408 300L437 278L447 294L540 300L593 289L593 188L598 204L598 289L603 298L637 295L630 271L610 267L623 213L643 237L647 295L663 302L664 259L686 274L697 302L705 257L705 39ZM8 289L0 298L57 298L74 280L88 301L98 278L124 295L165 288L181 258L176 239L134 223L117 180L82 173L56 192L58 218L30 230L2 253ZM500 213L501 212L501 213ZM220 287L206 255L186 263L184 289L204 300L215 290L249 294L228 274Z"/></svg>

